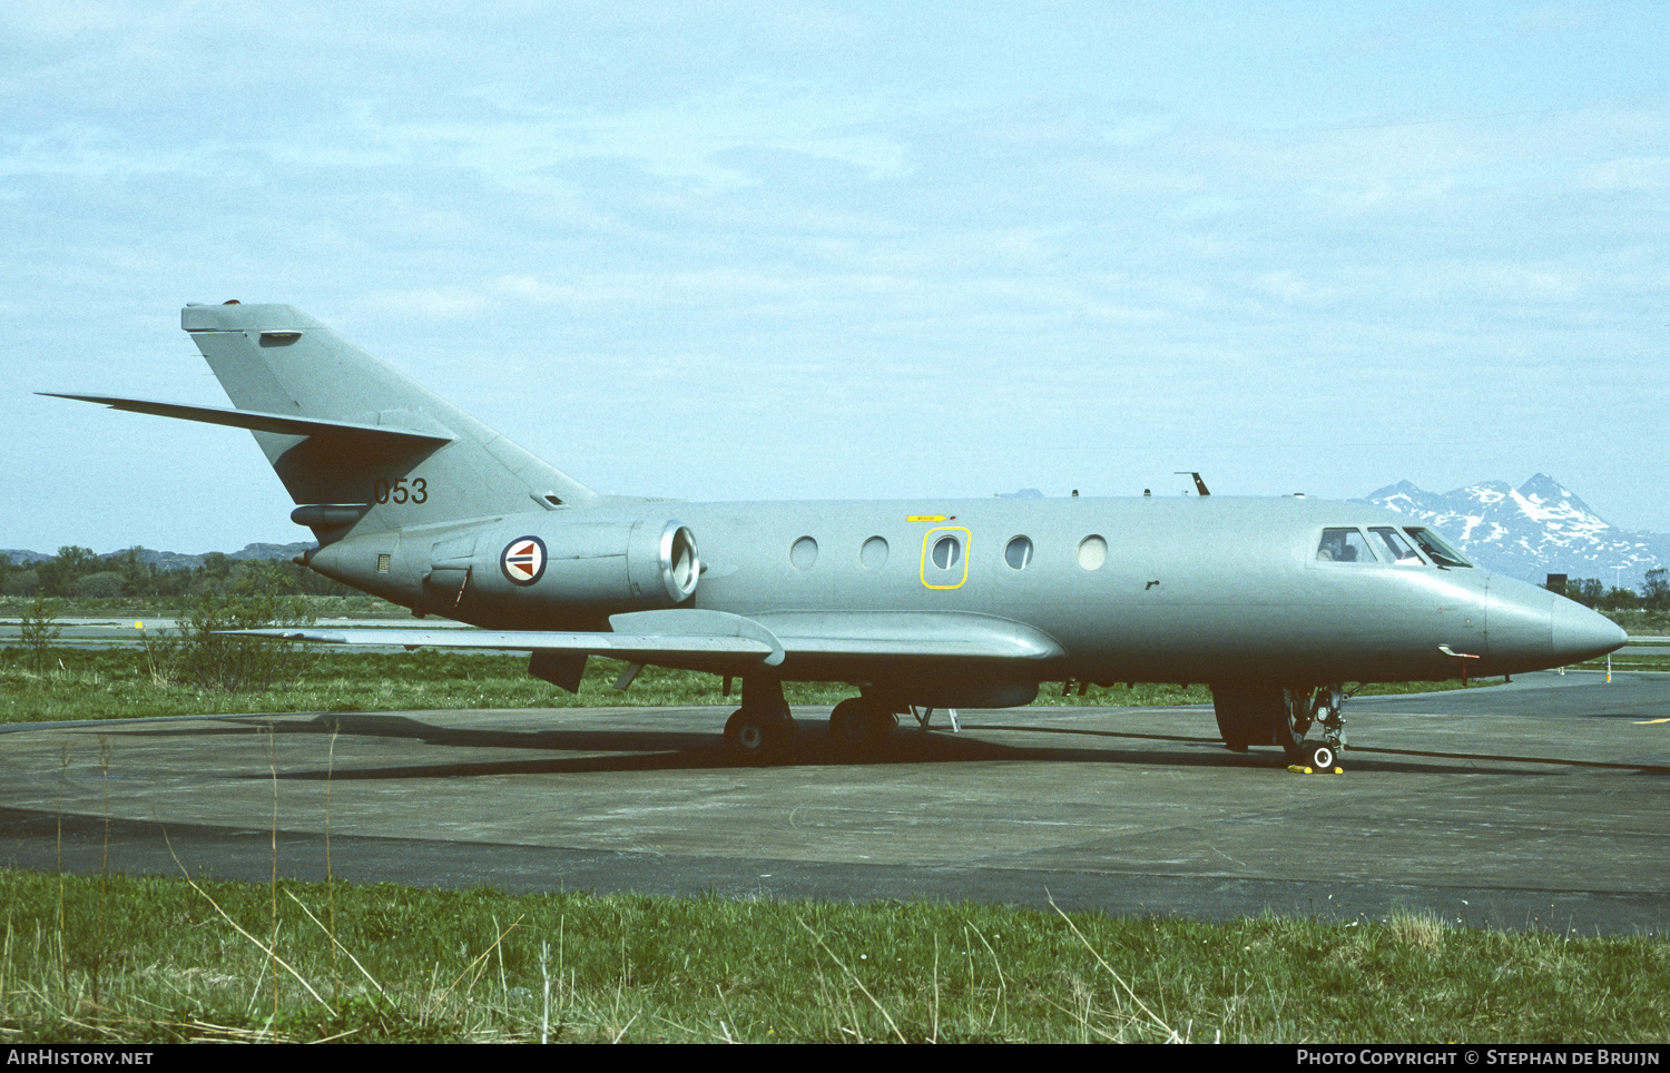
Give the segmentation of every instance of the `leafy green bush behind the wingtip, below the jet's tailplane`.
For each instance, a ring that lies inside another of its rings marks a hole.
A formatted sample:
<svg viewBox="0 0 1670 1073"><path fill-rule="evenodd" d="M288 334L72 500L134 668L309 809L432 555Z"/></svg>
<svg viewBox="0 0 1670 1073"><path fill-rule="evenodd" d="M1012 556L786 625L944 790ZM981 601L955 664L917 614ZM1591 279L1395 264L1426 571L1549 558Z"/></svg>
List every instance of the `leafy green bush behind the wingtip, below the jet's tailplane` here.
<svg viewBox="0 0 1670 1073"><path fill-rule="evenodd" d="M261 693L297 678L309 657L294 641L222 634L274 626L312 626L307 599L271 562L245 562L224 592L197 596L177 636L149 641L145 659L162 683Z"/></svg>

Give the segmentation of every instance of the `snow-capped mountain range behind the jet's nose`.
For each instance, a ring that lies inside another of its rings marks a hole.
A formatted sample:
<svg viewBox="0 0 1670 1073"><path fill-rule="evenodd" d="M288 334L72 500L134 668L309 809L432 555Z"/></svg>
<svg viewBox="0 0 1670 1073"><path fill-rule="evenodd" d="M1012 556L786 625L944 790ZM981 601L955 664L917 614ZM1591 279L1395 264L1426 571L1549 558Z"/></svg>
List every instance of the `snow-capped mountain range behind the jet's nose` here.
<svg viewBox="0 0 1670 1073"><path fill-rule="evenodd" d="M1612 526L1548 474L1518 489L1486 481L1453 492L1401 481L1366 499L1421 519L1485 569L1536 584L1568 574L1633 587L1647 571L1670 566L1670 536Z"/></svg>

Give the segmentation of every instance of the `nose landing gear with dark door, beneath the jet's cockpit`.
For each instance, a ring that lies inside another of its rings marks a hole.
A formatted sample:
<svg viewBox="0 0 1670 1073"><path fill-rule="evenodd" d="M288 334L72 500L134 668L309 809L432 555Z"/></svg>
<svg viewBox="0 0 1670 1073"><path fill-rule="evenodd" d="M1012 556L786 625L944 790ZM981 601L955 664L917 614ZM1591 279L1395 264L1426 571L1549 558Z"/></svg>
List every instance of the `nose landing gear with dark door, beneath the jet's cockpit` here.
<svg viewBox="0 0 1670 1073"><path fill-rule="evenodd" d="M1224 744L1281 746L1288 763L1333 771L1346 748L1344 688L1222 683L1212 686L1212 709Z"/></svg>

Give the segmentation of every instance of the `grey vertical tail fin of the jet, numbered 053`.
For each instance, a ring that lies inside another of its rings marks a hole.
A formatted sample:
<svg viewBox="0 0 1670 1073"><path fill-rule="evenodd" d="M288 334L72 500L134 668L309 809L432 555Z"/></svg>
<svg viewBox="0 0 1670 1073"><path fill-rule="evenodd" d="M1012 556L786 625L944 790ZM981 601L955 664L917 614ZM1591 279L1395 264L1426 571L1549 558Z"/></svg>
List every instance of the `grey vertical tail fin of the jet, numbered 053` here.
<svg viewBox="0 0 1670 1073"><path fill-rule="evenodd" d="M321 542L598 499L297 309L187 305L180 327Z"/></svg>

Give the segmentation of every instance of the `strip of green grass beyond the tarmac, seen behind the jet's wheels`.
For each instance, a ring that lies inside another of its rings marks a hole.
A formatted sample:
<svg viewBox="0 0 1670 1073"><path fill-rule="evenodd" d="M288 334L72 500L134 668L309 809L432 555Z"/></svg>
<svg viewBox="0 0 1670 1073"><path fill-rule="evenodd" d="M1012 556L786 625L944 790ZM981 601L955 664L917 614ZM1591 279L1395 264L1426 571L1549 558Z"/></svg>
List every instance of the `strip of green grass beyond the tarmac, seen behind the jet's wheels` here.
<svg viewBox="0 0 1670 1073"><path fill-rule="evenodd" d="M145 716L240 714L282 711L411 711L456 708L598 708L598 706L723 706L715 674L646 667L631 689L613 683L625 664L591 659L579 694L571 694L528 674L526 656L496 656L419 649L416 652L346 652L311 649L306 669L294 681L259 693L225 693L169 681L147 661L144 649L58 647L45 671L30 667L22 647L0 649L0 723L58 719L130 719ZM1473 683L1478 686L1480 683ZM1460 683L1393 683L1369 686L1376 693L1458 689ZM837 704L853 696L835 683L790 683L790 704ZM1169 706L1209 704L1206 686L1137 683L1091 688L1086 696L1045 683L1039 704Z"/></svg>

